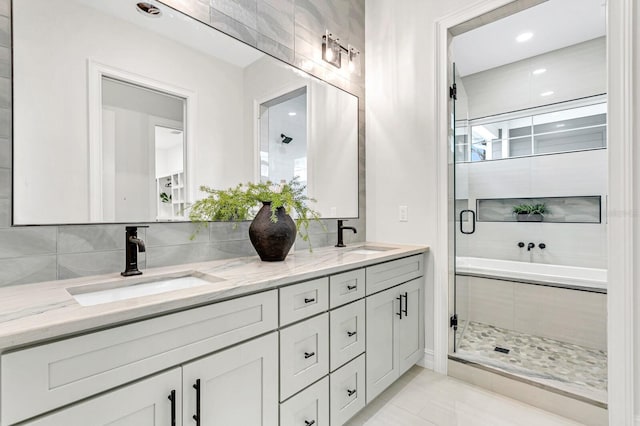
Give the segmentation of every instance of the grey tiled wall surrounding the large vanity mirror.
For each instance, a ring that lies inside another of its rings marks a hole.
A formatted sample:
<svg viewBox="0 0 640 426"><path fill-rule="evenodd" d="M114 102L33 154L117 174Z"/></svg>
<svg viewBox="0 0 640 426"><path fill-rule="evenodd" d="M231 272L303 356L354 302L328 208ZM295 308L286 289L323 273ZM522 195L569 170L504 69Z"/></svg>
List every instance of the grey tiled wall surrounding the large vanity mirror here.
<svg viewBox="0 0 640 426"><path fill-rule="evenodd" d="M108 0L103 0L108 1ZM359 215L349 224L365 240L364 0L164 0L194 18L330 81L360 98ZM11 0L0 0L0 286L113 273L124 269L124 225L11 227ZM338 77L319 59L325 29L362 51L361 76ZM64 46L61 46L63 49ZM15 143L20 143L19 140ZM63 202L63 201L61 201ZM46 206L42 206L46 209ZM336 221L311 230L314 247L334 244ZM212 223L191 240L191 223L155 223L140 235L143 267L255 255L248 223ZM307 244L296 242L296 250Z"/></svg>

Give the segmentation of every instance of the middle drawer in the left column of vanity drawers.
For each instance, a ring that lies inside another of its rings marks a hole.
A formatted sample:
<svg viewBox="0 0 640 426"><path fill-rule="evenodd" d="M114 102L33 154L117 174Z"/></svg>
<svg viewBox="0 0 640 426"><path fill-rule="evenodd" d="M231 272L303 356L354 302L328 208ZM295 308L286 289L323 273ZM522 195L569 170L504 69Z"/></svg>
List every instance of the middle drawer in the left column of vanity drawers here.
<svg viewBox="0 0 640 426"><path fill-rule="evenodd" d="M280 330L280 401L329 373L329 314Z"/></svg>

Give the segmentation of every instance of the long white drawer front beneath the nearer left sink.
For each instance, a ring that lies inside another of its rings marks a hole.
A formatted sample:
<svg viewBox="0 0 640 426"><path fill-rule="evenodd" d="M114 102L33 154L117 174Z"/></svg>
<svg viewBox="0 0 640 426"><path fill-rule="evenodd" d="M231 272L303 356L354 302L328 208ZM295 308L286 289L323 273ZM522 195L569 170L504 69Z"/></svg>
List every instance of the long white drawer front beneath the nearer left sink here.
<svg viewBox="0 0 640 426"><path fill-rule="evenodd" d="M2 355L8 425L277 328L277 290Z"/></svg>

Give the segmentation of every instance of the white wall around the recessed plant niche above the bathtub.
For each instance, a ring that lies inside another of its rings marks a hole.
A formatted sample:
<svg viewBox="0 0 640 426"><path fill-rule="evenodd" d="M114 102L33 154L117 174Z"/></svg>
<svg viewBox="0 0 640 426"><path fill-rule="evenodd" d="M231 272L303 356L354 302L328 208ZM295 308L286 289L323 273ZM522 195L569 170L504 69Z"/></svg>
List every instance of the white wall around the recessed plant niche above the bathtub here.
<svg viewBox="0 0 640 426"><path fill-rule="evenodd" d="M476 209L476 199L601 196L607 201L607 150L456 164L456 194ZM606 212L602 223L476 222L457 230L456 254L471 257L607 267ZM457 228L456 228L457 229ZM578 237L579 236L579 237ZM517 242L545 243L531 252Z"/></svg>

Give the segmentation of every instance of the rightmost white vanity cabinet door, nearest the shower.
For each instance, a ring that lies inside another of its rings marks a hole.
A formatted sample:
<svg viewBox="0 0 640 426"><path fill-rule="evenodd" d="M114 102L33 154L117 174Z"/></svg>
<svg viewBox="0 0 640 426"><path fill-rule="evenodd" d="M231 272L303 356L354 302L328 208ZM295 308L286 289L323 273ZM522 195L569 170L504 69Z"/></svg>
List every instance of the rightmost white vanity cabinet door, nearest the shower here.
<svg viewBox="0 0 640 426"><path fill-rule="evenodd" d="M402 298L402 319L398 320L398 349L403 374L424 356L424 292L422 278L399 287ZM399 317L398 317L399 318Z"/></svg>

